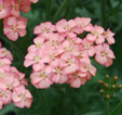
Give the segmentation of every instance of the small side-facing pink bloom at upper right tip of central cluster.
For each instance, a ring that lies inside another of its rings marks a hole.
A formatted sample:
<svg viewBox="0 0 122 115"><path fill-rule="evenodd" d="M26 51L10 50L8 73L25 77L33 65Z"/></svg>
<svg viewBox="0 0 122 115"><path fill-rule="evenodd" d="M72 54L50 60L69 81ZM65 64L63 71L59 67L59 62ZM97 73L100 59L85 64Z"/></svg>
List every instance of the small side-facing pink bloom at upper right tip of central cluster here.
<svg viewBox="0 0 122 115"><path fill-rule="evenodd" d="M107 41L108 41L109 44L114 43L114 38L113 38L114 33L112 33L112 31L108 28L107 31L104 33L104 35L105 35L105 37L106 37L106 39L107 39Z"/></svg>

